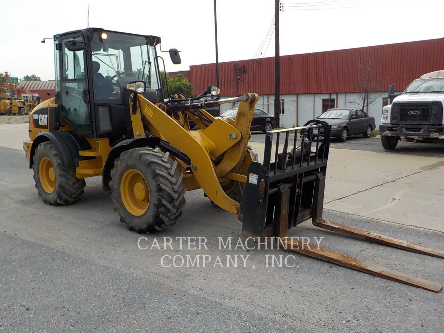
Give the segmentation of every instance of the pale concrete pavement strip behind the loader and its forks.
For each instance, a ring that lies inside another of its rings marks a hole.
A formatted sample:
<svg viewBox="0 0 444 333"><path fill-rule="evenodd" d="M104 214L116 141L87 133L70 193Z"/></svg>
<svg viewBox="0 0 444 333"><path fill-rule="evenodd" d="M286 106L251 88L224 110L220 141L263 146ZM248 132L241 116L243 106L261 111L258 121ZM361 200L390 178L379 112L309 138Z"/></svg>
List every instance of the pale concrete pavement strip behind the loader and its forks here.
<svg viewBox="0 0 444 333"><path fill-rule="evenodd" d="M23 151L28 124L0 124L0 146ZM264 144L251 142L262 162ZM444 156L330 149L325 208L444 232Z"/></svg>

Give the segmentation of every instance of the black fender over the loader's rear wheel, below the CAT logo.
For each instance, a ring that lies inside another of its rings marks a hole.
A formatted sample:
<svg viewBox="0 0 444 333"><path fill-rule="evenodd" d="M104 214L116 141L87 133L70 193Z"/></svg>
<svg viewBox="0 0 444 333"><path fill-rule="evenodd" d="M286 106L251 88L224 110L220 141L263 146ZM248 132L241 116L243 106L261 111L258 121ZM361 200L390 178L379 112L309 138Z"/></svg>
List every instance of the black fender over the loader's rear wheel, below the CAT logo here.
<svg viewBox="0 0 444 333"><path fill-rule="evenodd" d="M32 168L34 163L33 157L36 152L36 148L40 143L45 141L51 141L56 145L59 151L60 158L62 159L63 166L66 169L73 169L79 166L79 160L88 159L83 156L79 156L79 151L91 149L90 144L85 138L79 137L75 132L71 131L59 131L59 132L42 132L36 136L36 139L32 142L31 151L29 154L29 168Z"/></svg>

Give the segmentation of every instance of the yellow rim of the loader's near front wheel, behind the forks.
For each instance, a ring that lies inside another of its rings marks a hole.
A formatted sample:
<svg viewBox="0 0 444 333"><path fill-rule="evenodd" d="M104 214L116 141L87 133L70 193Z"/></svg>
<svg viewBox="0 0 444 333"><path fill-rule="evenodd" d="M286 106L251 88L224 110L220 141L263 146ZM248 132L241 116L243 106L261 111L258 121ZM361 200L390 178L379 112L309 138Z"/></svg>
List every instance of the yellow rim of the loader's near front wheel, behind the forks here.
<svg viewBox="0 0 444 333"><path fill-rule="evenodd" d="M120 197L132 215L143 215L150 204L150 190L145 177L135 169L126 170L120 181Z"/></svg>

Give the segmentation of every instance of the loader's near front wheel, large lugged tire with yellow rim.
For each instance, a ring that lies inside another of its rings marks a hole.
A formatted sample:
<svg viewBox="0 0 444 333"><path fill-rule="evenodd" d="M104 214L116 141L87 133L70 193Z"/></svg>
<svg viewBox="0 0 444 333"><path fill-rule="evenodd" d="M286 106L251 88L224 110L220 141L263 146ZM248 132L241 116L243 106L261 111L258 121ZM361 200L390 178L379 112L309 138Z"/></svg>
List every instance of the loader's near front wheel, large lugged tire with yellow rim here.
<svg viewBox="0 0 444 333"><path fill-rule="evenodd" d="M138 233L165 230L182 215L186 188L177 161L160 148L124 151L111 170L111 199L120 221Z"/></svg>

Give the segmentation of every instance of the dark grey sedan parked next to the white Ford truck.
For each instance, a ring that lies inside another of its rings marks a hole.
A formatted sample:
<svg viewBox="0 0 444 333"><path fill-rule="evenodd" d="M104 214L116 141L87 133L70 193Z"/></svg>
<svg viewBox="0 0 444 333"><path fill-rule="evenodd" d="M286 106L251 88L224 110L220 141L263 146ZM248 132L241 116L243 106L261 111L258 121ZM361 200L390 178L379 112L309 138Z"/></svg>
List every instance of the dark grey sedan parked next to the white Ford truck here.
<svg viewBox="0 0 444 333"><path fill-rule="evenodd" d="M317 117L329 123L332 127L332 137L340 141L347 140L349 135L362 134L369 138L376 128L375 119L369 117L361 109L337 108L329 109ZM323 129L320 129L322 135Z"/></svg>

